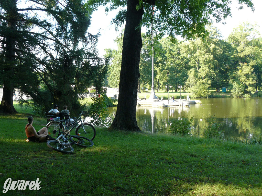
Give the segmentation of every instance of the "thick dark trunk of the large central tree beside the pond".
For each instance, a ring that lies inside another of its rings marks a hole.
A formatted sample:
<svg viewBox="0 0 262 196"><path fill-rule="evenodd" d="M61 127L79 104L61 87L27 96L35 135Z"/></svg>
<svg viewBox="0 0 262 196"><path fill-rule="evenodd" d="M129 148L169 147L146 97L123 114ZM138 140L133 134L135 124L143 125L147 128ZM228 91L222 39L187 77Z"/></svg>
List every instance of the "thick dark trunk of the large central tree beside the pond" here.
<svg viewBox="0 0 262 196"><path fill-rule="evenodd" d="M140 21L143 8L136 10L138 0L127 1L127 16L123 38L119 99L116 116L110 129L141 131L137 125L137 87L139 59L142 48Z"/></svg>

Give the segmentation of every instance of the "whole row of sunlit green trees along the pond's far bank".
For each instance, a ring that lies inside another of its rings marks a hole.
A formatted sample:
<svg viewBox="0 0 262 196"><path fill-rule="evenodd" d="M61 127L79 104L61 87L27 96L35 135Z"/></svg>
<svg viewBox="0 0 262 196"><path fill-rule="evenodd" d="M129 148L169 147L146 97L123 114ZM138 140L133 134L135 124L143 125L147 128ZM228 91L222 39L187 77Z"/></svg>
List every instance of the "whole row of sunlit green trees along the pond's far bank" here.
<svg viewBox="0 0 262 196"><path fill-rule="evenodd" d="M231 90L233 96L250 96L262 87L262 38L259 27L243 23L233 30L226 40L219 30L209 26L205 38L187 41L169 37L154 40L154 84L155 89L172 85L194 97L207 97L210 89ZM106 81L109 87L118 87L121 69L123 35L115 42L118 49L106 49L110 66ZM139 63L138 92L141 87L151 88L151 39L142 33L143 47Z"/></svg>

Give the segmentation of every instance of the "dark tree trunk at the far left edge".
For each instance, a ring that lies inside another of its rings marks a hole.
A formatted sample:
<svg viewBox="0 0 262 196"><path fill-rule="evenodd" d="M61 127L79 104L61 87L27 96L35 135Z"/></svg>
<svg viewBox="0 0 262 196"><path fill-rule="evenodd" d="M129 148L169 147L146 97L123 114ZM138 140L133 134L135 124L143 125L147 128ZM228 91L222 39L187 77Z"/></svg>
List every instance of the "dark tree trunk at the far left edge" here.
<svg viewBox="0 0 262 196"><path fill-rule="evenodd" d="M17 23L17 0L9 1L9 12L7 15L8 24L7 28L9 30L6 36L6 58L4 66L3 78L3 98L0 105L0 112L3 113L17 113L13 105L13 94L14 94L14 68L15 65L15 32Z"/></svg>

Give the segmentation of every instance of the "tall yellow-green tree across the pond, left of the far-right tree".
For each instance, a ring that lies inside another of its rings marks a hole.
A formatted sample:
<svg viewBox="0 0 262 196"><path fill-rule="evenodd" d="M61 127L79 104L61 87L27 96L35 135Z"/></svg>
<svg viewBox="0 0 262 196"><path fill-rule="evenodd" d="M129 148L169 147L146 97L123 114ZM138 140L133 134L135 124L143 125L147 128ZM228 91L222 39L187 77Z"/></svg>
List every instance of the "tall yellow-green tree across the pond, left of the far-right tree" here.
<svg viewBox="0 0 262 196"><path fill-rule="evenodd" d="M209 26L208 32L205 38L182 44L183 55L188 58L191 67L188 73L194 76L187 79L187 87L195 97L208 96L209 87L216 88L219 92L222 85L229 82L231 47L220 39L216 28Z"/></svg>

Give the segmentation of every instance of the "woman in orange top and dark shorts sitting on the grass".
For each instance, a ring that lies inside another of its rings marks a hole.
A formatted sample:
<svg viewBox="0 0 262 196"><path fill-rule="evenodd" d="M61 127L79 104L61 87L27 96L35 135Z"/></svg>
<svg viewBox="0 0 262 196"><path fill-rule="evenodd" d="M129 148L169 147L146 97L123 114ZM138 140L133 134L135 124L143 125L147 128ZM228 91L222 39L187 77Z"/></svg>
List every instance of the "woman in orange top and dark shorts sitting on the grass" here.
<svg viewBox="0 0 262 196"><path fill-rule="evenodd" d="M28 124L26 124L25 127L25 134L29 142L46 142L48 140L54 140L54 138L48 135L46 127L43 127L40 131L36 132L35 128L32 126L34 121L33 117L29 116L27 120Z"/></svg>

